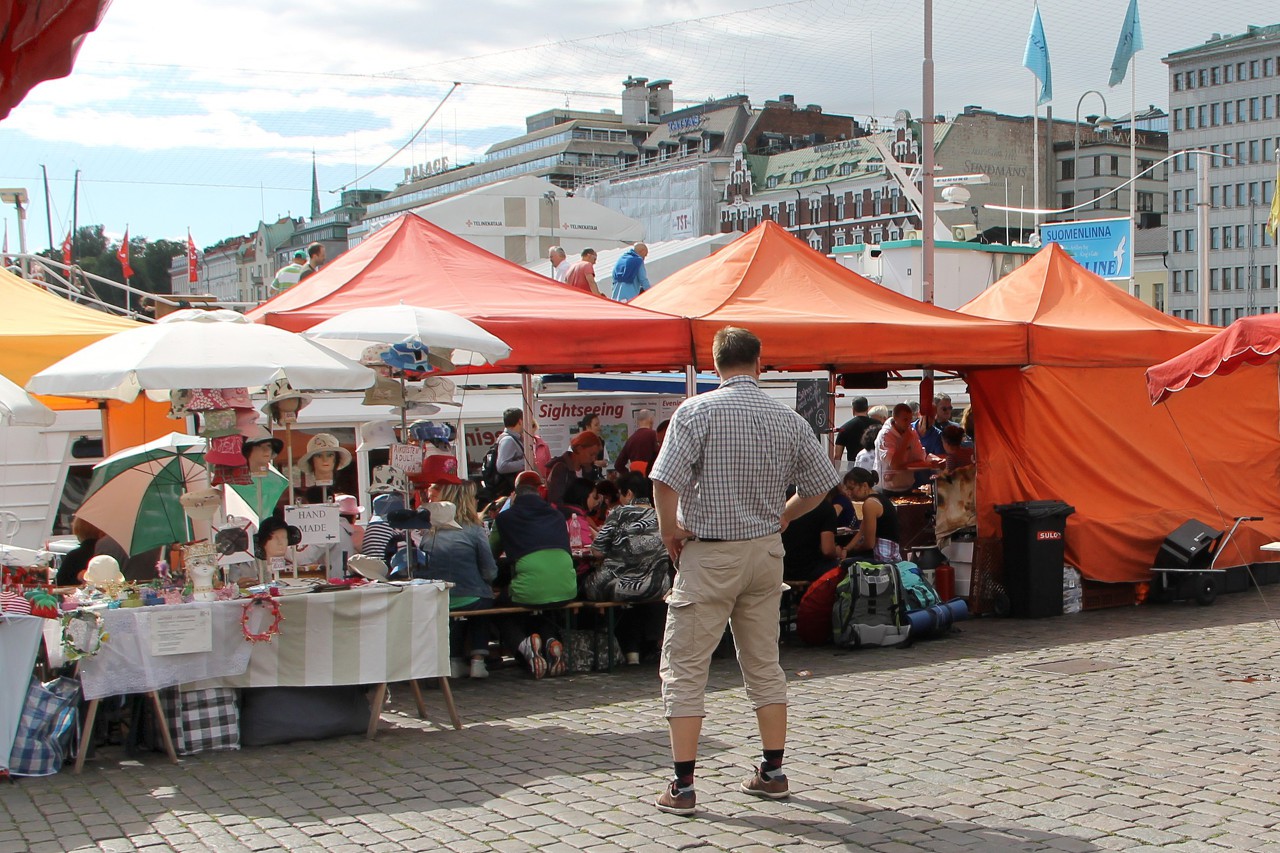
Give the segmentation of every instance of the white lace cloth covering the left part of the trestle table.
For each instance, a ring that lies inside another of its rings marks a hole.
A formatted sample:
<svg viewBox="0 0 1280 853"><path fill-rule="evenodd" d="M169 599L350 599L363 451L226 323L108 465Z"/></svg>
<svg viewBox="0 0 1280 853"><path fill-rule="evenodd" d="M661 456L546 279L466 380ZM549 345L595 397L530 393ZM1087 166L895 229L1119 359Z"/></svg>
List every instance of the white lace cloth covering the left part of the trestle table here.
<svg viewBox="0 0 1280 853"><path fill-rule="evenodd" d="M187 654L151 654L151 620L156 613L207 608L212 616L212 651ZM86 699L122 693L146 693L186 681L236 675L248 669L252 643L241 630L241 603L234 601L122 607L104 610L108 640L81 662Z"/></svg>

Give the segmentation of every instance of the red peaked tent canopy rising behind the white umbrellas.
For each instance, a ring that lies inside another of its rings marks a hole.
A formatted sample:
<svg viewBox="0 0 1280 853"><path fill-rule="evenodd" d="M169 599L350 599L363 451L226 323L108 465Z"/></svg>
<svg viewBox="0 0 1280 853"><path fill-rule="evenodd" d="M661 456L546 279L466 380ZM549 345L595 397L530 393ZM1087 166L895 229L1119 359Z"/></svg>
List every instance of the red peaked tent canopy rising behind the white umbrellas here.
<svg viewBox="0 0 1280 853"><path fill-rule="evenodd" d="M472 371L664 370L689 364L689 321L591 296L406 214L248 314L305 332L355 307L453 311L511 346Z"/></svg>

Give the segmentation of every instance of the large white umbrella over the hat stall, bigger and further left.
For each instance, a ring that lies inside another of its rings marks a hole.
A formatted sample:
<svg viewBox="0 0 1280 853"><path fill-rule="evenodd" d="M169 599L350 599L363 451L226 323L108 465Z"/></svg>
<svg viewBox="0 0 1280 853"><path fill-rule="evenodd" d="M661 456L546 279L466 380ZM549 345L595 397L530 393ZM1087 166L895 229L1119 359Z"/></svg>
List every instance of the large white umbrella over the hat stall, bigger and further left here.
<svg viewBox="0 0 1280 853"><path fill-rule="evenodd" d="M192 309L91 343L37 373L27 389L132 402L141 391L257 387L282 377L300 391L374 384L369 368L292 332Z"/></svg>

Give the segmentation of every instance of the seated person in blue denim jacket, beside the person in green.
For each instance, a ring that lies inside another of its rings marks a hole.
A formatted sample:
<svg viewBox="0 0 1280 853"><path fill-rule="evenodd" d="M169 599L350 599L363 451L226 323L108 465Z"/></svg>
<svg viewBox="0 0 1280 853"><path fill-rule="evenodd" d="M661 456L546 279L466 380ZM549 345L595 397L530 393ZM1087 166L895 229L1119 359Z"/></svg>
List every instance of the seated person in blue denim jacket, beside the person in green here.
<svg viewBox="0 0 1280 853"><path fill-rule="evenodd" d="M413 576L452 583L451 611L488 610L493 607L498 564L476 512L474 489L458 489L457 496L465 502L433 501L426 505L431 517L431 526L421 544L426 561L413 571ZM470 497L468 502L466 497ZM449 622L449 676L489 678L484 662L489 657L489 625L483 619L453 619ZM470 667L467 657L471 658Z"/></svg>

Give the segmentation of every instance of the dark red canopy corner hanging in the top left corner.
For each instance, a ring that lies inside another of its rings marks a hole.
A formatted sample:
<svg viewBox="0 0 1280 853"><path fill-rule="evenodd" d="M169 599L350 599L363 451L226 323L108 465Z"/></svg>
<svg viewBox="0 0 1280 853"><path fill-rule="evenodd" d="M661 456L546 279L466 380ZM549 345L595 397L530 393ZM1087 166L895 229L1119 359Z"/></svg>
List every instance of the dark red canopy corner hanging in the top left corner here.
<svg viewBox="0 0 1280 853"><path fill-rule="evenodd" d="M72 73L111 0L9 0L0 12L0 119L37 83Z"/></svg>

